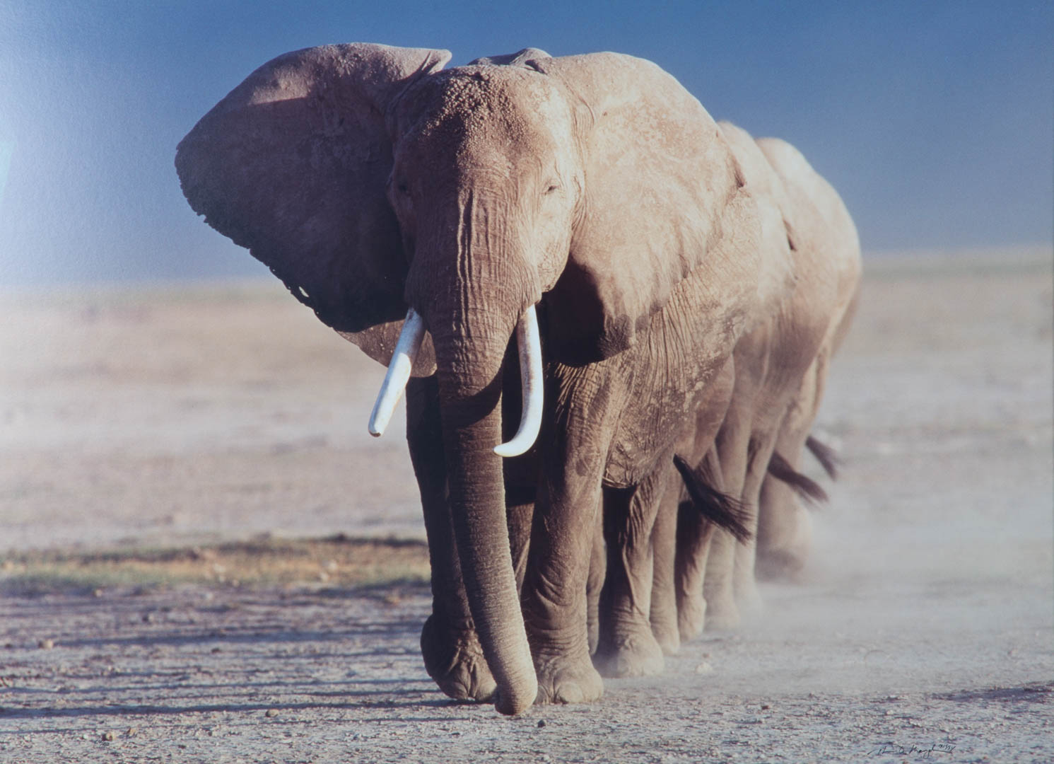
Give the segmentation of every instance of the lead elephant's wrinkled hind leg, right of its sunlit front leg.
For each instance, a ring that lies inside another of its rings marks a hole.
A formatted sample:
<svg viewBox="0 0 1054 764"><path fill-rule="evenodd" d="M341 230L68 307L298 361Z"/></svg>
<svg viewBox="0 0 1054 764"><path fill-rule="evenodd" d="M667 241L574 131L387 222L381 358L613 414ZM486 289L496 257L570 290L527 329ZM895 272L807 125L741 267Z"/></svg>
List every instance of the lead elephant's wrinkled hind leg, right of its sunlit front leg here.
<svg viewBox="0 0 1054 764"><path fill-rule="evenodd" d="M601 594L600 644L593 656L603 676L660 673L662 648L651 633L651 531L670 480L672 454L631 489L604 489L607 577Z"/></svg>

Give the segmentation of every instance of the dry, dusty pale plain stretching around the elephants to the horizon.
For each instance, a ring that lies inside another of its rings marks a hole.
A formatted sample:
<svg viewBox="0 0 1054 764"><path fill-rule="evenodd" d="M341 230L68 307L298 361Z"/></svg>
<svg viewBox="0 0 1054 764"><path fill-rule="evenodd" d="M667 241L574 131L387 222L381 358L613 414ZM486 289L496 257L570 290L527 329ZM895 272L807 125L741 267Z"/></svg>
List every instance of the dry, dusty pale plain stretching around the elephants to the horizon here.
<svg viewBox="0 0 1054 764"><path fill-rule="evenodd" d="M380 366L277 282L5 293L0 761L1052 761L1051 263L868 260L803 579L516 719L425 673Z"/></svg>

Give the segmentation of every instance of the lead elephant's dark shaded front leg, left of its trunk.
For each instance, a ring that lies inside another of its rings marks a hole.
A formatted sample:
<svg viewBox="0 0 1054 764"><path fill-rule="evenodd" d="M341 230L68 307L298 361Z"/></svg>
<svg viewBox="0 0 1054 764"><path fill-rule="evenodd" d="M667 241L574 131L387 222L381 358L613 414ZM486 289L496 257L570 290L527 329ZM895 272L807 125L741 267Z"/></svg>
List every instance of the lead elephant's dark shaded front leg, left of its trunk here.
<svg viewBox="0 0 1054 764"><path fill-rule="evenodd" d="M425 668L450 698L489 701L496 685L469 613L454 545L435 379L411 379L406 400L407 442L421 491L432 569L432 614L421 632Z"/></svg>

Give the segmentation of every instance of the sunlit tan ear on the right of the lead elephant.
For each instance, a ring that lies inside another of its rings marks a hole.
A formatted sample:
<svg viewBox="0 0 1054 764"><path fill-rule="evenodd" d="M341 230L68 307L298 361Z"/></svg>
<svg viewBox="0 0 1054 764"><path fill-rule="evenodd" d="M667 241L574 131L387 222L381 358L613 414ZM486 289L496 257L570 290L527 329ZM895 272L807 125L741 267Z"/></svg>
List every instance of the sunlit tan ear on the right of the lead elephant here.
<svg viewBox="0 0 1054 764"><path fill-rule="evenodd" d="M748 224L752 206L714 119L656 64L597 53L527 65L579 104L584 204L546 309L557 358L587 363L631 346L708 255L731 256L735 247L718 245Z"/></svg>

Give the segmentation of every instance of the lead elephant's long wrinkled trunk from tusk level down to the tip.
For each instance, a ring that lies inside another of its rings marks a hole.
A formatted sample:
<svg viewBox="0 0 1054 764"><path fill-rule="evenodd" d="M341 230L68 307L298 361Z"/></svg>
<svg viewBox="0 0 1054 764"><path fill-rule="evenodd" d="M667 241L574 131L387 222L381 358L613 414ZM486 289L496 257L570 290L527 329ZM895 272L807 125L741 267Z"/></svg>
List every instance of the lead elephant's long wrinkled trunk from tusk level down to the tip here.
<svg viewBox="0 0 1054 764"><path fill-rule="evenodd" d="M500 314L468 326L455 320L449 329L433 328L432 339L450 511L469 609L497 684L497 710L521 713L534 702L538 682L509 550L502 457L494 453L502 437L502 359L512 330L497 324L507 322Z"/></svg>

